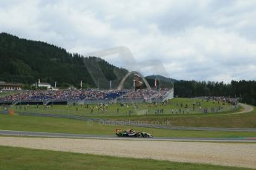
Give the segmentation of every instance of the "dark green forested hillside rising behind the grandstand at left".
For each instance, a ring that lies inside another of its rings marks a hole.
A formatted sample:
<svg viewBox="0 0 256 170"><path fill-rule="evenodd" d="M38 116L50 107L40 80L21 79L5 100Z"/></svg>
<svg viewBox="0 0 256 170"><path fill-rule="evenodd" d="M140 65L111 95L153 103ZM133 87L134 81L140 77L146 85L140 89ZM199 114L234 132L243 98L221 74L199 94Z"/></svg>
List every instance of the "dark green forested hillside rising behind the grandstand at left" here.
<svg viewBox="0 0 256 170"><path fill-rule="evenodd" d="M0 34L0 61L0 81L23 84L35 83L40 78L51 85L57 81L57 86L67 83L79 87L82 80L96 87L96 79L101 78L101 88L108 88L108 81L117 82L128 72L100 58L72 55L63 48L7 33Z"/></svg>

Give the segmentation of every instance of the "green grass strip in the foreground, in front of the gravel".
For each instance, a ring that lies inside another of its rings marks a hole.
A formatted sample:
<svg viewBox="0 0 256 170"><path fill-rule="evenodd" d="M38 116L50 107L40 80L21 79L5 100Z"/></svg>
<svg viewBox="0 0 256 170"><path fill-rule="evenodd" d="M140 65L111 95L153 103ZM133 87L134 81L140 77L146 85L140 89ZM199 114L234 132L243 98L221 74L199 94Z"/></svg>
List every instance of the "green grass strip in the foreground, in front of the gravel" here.
<svg viewBox="0 0 256 170"><path fill-rule="evenodd" d="M0 169L243 169L0 146Z"/></svg>

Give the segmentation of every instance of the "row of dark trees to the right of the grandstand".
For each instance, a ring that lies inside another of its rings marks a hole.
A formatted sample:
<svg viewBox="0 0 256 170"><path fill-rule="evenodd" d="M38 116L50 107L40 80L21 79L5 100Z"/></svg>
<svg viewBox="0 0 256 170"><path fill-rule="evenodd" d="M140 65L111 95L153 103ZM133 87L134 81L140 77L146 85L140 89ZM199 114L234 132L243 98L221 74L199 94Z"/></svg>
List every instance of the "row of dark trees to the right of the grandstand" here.
<svg viewBox="0 0 256 170"><path fill-rule="evenodd" d="M212 81L176 81L174 96L182 98L225 96L240 98L241 102L256 106L256 81L231 81L230 84Z"/></svg>

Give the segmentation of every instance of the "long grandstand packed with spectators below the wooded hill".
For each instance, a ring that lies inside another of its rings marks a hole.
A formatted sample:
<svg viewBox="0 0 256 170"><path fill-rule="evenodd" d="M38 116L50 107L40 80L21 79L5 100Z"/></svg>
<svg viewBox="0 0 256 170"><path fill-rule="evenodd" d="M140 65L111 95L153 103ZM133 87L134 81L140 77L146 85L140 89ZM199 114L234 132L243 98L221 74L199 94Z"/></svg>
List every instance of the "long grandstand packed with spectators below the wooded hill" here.
<svg viewBox="0 0 256 170"><path fill-rule="evenodd" d="M159 91L151 89L133 89L120 90L97 90L97 89L85 89L85 90L26 90L14 95L7 95L0 97L0 103L12 103L14 105L22 102L31 104L42 103L47 101L72 101L72 103L109 103L114 101L137 101L147 102L149 100L162 100L168 89L161 89ZM63 103L63 102L62 102Z"/></svg>

